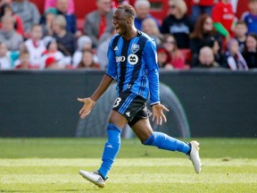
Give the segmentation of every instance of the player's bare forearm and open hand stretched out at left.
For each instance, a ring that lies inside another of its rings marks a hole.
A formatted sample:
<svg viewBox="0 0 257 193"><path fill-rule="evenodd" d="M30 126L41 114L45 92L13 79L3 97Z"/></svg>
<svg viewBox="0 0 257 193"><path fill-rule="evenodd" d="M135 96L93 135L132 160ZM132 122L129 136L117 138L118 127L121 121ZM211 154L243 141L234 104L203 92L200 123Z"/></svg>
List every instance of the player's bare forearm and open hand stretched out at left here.
<svg viewBox="0 0 257 193"><path fill-rule="evenodd" d="M84 119L87 116L87 114L91 112L91 110L95 105L95 102L98 100L100 96L104 94L105 90L110 86L111 83L112 83L112 78L105 74L99 87L96 88L92 96L87 98L78 98L79 102L84 103L83 107L79 111L79 115L81 119Z"/></svg>

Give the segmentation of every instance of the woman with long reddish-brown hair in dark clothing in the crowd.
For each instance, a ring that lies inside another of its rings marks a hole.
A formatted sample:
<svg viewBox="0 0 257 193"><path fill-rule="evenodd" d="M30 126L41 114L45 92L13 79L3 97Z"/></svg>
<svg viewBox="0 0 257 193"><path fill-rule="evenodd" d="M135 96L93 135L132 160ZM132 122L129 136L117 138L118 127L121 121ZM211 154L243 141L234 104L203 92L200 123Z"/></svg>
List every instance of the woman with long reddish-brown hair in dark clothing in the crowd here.
<svg viewBox="0 0 257 193"><path fill-rule="evenodd" d="M216 39L222 47L221 35L213 28L213 21L207 14L202 14L196 22L194 31L190 34L190 49L192 52L191 66L198 63L200 49L205 46L205 41ZM221 51L221 50L220 50Z"/></svg>

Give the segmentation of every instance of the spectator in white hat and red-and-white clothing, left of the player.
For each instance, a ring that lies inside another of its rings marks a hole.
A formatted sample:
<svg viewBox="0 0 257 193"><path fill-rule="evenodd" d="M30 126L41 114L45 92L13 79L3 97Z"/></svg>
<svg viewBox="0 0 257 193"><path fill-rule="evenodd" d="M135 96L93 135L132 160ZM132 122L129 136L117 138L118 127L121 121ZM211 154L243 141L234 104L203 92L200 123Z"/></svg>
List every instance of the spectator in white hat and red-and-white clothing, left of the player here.
<svg viewBox="0 0 257 193"><path fill-rule="evenodd" d="M44 44L46 46L46 50L42 54L42 65L45 66L46 59L49 57L54 57L55 62L60 66L69 65L70 61L66 62L65 56L58 50L58 45L56 39L53 37L44 38ZM45 66L46 67L46 66Z"/></svg>

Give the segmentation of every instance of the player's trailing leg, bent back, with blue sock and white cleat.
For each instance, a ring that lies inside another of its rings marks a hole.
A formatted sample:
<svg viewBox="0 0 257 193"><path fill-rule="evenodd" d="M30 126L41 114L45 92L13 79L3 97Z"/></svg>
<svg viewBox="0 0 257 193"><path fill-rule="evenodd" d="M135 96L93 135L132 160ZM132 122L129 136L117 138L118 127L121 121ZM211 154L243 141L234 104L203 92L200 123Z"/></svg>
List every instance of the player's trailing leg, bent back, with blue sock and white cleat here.
<svg viewBox="0 0 257 193"><path fill-rule="evenodd" d="M177 138L171 138L162 132L153 131L148 118L139 119L137 117L133 125L131 125L131 128L137 135L137 138L146 146L155 146L161 149L186 154L194 164L195 172L200 173L202 164L199 157L198 142L191 141L190 143L185 143Z"/></svg>

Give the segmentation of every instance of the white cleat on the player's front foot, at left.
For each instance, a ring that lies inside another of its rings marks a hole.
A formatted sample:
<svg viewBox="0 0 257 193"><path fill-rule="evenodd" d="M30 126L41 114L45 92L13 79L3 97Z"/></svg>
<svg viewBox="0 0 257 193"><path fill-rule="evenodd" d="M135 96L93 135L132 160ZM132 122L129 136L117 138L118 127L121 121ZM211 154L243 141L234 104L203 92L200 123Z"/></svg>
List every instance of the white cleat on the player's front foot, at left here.
<svg viewBox="0 0 257 193"><path fill-rule="evenodd" d="M86 172L86 171L79 171L79 174L83 176L83 178L91 181L92 183L94 183L97 187L103 189L105 186L105 180L102 177L102 175L98 172Z"/></svg>

